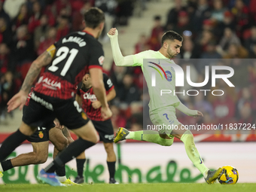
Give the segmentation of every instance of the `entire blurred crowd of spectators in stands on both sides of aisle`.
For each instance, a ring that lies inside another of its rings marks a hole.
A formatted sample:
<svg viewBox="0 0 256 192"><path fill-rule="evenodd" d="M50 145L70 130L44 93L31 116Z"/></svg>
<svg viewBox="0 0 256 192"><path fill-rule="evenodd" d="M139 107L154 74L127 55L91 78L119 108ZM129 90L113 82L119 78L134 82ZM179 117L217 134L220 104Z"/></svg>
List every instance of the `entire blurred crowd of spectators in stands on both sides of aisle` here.
<svg viewBox="0 0 256 192"><path fill-rule="evenodd" d="M141 16L147 0L1 0L0 1L0 123L6 116L6 104L18 92L33 59L69 32L82 29L83 14L96 6L114 17L112 26L129 25L129 17ZM160 39L167 30L184 38L176 56L191 81L203 82L205 66L230 66L235 75L229 87L224 81L211 82L208 90L224 90L224 96L199 91L198 96L179 94L187 107L203 112L203 118L187 117L177 111L184 124L256 123L256 0L175 0L166 15L152 16L149 36L139 35L134 53L159 50ZM106 32L103 32L105 35ZM125 53L125 47L123 47ZM224 62L221 59L230 59ZM117 67L106 73L111 77L117 97L111 102L114 129L125 126L141 130L142 111L148 94L139 67ZM210 76L211 77L211 76ZM186 82L186 81L185 81ZM194 90L185 84L177 90ZM197 89L199 90L199 89ZM253 115L254 114L254 115Z"/></svg>

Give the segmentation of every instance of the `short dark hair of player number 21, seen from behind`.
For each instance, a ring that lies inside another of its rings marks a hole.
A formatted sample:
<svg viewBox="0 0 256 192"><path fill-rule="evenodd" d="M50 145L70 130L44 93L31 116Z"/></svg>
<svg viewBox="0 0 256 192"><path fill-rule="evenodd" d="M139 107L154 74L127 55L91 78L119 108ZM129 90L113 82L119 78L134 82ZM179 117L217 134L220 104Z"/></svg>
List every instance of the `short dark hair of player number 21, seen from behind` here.
<svg viewBox="0 0 256 192"><path fill-rule="evenodd" d="M84 21L87 27L95 29L97 26L99 26L99 23L105 21L105 14L99 8L90 8L84 14Z"/></svg>

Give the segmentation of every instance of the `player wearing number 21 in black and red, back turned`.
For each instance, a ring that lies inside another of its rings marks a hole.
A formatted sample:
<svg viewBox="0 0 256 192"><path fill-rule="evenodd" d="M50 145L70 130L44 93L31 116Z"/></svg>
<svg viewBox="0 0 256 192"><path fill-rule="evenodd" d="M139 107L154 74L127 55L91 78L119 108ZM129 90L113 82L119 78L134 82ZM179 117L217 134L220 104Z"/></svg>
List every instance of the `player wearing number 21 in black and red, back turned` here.
<svg viewBox="0 0 256 192"><path fill-rule="evenodd" d="M30 87L46 66L32 93L29 105L23 113L19 130L13 133L0 148L0 162L17 146L29 138L37 126L50 124L55 118L72 130L79 139L60 153L49 166L42 169L38 179L53 186L62 185L54 173L58 167L77 157L99 141L91 120L75 101L78 83L89 72L93 91L101 102L102 118L111 117L103 84L102 63L104 52L97 41L105 23L105 15L99 8L90 8L84 14L84 31L72 32L50 46L32 62L20 92L8 102L8 111L23 108ZM35 124L36 123L36 124Z"/></svg>

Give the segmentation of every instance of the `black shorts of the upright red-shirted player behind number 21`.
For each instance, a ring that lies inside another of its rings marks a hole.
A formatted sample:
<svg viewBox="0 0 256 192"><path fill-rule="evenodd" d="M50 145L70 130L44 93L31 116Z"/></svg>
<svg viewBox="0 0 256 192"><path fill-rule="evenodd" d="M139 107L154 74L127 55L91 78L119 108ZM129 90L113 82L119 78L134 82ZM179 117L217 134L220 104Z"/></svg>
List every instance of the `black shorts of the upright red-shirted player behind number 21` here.
<svg viewBox="0 0 256 192"><path fill-rule="evenodd" d="M96 131L99 133L100 141L102 142L113 142L114 130L111 120L92 120Z"/></svg>

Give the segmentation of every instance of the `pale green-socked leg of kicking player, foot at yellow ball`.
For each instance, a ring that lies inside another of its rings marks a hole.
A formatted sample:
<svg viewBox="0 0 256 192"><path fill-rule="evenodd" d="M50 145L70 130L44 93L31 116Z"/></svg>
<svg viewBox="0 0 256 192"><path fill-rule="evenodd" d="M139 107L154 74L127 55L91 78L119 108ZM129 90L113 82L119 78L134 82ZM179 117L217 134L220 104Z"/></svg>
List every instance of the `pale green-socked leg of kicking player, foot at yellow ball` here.
<svg viewBox="0 0 256 192"><path fill-rule="evenodd" d="M190 130L181 130L181 124L179 124L178 130L172 130L171 134L172 136L181 139L181 142L184 143L187 156L190 158L192 163L194 163L194 166L200 170L208 184L214 183L215 180L222 175L223 169L219 168L215 171L211 171L204 165L203 160L200 157L200 154L197 151L196 145L194 143L194 136Z"/></svg>

